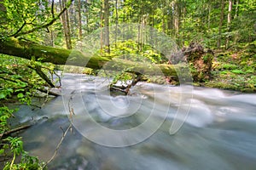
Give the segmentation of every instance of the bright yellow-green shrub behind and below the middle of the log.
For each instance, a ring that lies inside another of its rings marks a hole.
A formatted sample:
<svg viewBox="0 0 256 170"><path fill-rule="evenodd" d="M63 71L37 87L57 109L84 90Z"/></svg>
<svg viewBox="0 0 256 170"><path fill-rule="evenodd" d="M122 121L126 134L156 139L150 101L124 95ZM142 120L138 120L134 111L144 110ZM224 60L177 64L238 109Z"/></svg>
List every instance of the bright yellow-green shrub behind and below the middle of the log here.
<svg viewBox="0 0 256 170"><path fill-rule="evenodd" d="M101 54L104 57L108 57L111 59L125 59L128 61L148 64L148 66L152 64L160 64L166 61L166 58L159 54L158 51L154 48L150 47L147 44L142 45L138 42L134 42L131 40L117 42L116 44L113 44L111 46L110 54L106 53L104 49L99 50L96 53L96 55ZM127 84L128 81L131 81L132 79L137 77L137 75L131 73L134 66L136 65L125 68L122 71L105 71L102 72L100 76L109 78L113 77L112 84L115 84L117 82ZM87 72L90 73L90 71L88 70Z"/></svg>

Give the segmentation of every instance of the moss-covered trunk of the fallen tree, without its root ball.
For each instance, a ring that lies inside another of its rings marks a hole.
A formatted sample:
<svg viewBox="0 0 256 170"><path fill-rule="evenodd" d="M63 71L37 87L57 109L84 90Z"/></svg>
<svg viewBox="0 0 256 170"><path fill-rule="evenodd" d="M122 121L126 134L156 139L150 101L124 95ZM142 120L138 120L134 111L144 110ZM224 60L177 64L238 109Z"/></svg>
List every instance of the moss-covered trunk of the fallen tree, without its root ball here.
<svg viewBox="0 0 256 170"><path fill-rule="evenodd" d="M154 65L125 59L108 59L101 56L92 57L92 54L84 54L78 50L53 48L13 37L5 40L0 39L0 54L8 54L23 59L34 58L55 65L86 66L96 70L102 68L113 71L125 70L153 76L164 75L177 77L177 75L180 76L180 74L188 73L186 69L187 65Z"/></svg>

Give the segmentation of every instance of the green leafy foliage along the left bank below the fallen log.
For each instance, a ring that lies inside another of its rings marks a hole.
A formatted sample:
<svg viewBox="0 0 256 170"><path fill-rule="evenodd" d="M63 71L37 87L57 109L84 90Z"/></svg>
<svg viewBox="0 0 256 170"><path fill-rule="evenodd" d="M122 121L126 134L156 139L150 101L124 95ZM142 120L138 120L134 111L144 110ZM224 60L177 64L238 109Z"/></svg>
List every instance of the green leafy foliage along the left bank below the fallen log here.
<svg viewBox="0 0 256 170"><path fill-rule="evenodd" d="M9 109L8 103L12 101L31 105L32 97L38 94L38 89L47 86L33 68L40 66L45 74L50 75L53 74L53 66L41 64L35 60L15 59L15 57L0 55L0 134L2 138L3 134L9 130L9 118L13 116L14 111L17 111ZM13 155L13 160L8 162L4 169L40 169L42 167L38 158L28 156L23 150L20 138L8 137L3 139L3 142L4 146L0 150L0 156ZM22 156L20 163L15 164L16 156L20 155Z"/></svg>

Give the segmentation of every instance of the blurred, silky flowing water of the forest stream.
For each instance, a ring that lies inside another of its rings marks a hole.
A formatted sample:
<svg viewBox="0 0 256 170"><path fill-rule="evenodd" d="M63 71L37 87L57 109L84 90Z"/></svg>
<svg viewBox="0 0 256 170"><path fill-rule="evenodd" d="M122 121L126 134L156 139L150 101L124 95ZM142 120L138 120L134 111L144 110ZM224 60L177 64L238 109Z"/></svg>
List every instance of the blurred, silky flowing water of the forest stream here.
<svg viewBox="0 0 256 170"><path fill-rule="evenodd" d="M141 82L124 96L107 85L67 74L62 97L20 108L20 122L38 119L20 133L25 149L48 161L72 121L49 169L256 169L255 94Z"/></svg>

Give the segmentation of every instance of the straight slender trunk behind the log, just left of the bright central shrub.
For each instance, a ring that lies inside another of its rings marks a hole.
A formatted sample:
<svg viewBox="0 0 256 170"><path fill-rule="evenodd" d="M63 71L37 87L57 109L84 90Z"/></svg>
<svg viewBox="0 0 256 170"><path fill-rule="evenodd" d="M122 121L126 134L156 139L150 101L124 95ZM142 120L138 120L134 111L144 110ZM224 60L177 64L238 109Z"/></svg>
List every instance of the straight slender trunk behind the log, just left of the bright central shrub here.
<svg viewBox="0 0 256 170"><path fill-rule="evenodd" d="M109 44L109 2L104 0L104 45L106 52L110 53L110 44Z"/></svg>

